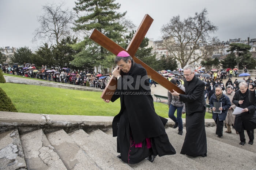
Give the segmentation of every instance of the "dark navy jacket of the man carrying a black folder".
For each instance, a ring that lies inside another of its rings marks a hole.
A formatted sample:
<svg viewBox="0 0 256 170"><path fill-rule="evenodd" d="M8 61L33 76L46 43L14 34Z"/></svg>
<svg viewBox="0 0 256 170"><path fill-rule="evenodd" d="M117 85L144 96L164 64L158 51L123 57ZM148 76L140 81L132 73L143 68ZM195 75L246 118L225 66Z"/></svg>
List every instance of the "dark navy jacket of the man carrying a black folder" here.
<svg viewBox="0 0 256 170"><path fill-rule="evenodd" d="M212 107L214 107L214 102L221 102L222 103L222 112L221 113L214 113L212 112L212 119L214 119L215 121L217 120L217 114L219 116L219 120L225 120L226 116L227 116L227 111L229 110L230 106L231 106L231 102L229 100L229 97L226 96L225 94L222 94L221 98L219 100L217 100L216 95L212 95L210 100L209 100L209 105L212 109Z"/></svg>

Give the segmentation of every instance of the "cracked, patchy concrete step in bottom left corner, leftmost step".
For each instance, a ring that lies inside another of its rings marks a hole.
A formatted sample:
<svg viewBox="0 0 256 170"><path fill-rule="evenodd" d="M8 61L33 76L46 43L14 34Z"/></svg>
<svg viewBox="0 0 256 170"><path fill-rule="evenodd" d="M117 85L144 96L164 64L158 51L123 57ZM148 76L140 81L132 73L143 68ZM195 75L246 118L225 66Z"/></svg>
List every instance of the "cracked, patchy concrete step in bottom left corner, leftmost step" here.
<svg viewBox="0 0 256 170"><path fill-rule="evenodd" d="M0 133L0 169L27 169L17 129Z"/></svg>

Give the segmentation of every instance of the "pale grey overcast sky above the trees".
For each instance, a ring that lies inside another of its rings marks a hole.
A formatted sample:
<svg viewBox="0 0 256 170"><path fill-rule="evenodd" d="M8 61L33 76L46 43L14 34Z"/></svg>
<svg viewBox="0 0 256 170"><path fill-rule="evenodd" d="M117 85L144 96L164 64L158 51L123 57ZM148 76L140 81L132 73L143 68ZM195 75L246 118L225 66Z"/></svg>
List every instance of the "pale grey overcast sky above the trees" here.
<svg viewBox="0 0 256 170"><path fill-rule="evenodd" d="M42 15L42 5L64 2L66 8L75 7L74 0L0 0L0 47L24 47L35 49L41 42L32 43L33 33L39 27L37 16ZM154 21L146 37L161 39L161 27L173 16L181 19L194 16L203 8L208 19L218 27L221 41L256 38L256 0L116 0L120 12L127 11L127 19L138 28L145 14Z"/></svg>

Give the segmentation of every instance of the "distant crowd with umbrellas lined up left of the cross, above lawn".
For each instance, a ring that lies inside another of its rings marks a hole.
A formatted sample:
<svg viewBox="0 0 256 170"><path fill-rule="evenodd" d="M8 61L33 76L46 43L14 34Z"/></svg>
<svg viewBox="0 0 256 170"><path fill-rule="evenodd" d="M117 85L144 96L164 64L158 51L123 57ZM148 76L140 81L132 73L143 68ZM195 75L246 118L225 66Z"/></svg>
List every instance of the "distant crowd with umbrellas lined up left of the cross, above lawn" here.
<svg viewBox="0 0 256 170"><path fill-rule="evenodd" d="M69 83L78 86L87 86L104 89L110 79L110 74L96 75L90 71L71 71L70 68L47 68L42 65L41 68L36 68L34 64L24 63L23 66L14 64L13 66L3 66L4 73L20 75L30 78L49 80L54 82Z"/></svg>

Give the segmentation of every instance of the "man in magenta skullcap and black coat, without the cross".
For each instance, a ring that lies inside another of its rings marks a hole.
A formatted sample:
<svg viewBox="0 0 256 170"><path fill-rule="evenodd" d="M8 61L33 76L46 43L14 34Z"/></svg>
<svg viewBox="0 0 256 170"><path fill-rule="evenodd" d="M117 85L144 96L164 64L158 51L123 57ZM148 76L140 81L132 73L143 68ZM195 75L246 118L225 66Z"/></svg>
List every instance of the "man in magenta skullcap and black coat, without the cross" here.
<svg viewBox="0 0 256 170"><path fill-rule="evenodd" d="M120 98L121 103L112 122L118 158L126 163L138 163L145 158L153 162L156 155L176 154L165 132L167 119L155 112L147 71L125 51L117 55L115 62L118 69L112 74L118 85L111 101Z"/></svg>

